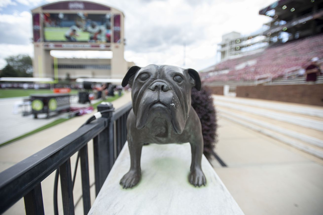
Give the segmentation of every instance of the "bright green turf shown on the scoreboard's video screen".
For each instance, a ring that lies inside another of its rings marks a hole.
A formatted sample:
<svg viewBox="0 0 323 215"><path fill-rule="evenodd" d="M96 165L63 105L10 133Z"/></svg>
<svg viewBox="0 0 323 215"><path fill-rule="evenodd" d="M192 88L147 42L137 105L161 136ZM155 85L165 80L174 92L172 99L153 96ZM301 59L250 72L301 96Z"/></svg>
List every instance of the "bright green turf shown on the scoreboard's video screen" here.
<svg viewBox="0 0 323 215"><path fill-rule="evenodd" d="M45 27L44 34L45 40L47 41L67 41L65 38L65 33L68 31L69 27ZM77 41L87 42L90 39L89 32L79 31L77 32L79 36L75 37Z"/></svg>

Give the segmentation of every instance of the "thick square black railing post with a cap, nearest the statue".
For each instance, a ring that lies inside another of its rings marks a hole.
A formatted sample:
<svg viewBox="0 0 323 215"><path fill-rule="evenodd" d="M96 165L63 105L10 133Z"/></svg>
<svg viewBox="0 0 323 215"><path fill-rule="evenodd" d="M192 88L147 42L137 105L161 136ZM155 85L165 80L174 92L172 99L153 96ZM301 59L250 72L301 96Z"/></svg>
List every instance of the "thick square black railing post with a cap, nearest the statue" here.
<svg viewBox="0 0 323 215"><path fill-rule="evenodd" d="M111 110L110 112L103 113L103 118L108 118L108 126L97 137L93 139L94 148L94 171L95 171L95 192L96 195L107 178L111 166L111 155L114 161L114 130L111 132L111 124L113 125L112 111L113 105L109 102L102 102L98 105L98 111ZM113 126L112 126L113 129ZM113 140L111 142L111 139ZM112 148L111 148L112 145Z"/></svg>

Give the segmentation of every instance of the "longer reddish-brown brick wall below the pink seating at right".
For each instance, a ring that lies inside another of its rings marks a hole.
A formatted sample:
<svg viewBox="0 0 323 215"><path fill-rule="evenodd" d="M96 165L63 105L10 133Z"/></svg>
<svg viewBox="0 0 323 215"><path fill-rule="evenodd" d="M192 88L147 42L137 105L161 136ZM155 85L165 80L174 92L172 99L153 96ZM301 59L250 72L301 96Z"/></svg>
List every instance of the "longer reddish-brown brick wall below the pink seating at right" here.
<svg viewBox="0 0 323 215"><path fill-rule="evenodd" d="M323 84L241 86L236 88L236 94L237 97L323 106Z"/></svg>

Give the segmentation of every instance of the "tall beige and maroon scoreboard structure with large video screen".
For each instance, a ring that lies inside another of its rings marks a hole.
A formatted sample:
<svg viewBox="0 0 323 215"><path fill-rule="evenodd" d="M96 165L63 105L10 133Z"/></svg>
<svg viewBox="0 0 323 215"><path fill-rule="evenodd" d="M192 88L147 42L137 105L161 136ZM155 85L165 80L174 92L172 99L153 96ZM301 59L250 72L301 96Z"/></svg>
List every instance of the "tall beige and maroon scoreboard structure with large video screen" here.
<svg viewBox="0 0 323 215"><path fill-rule="evenodd" d="M127 71L124 59L124 14L107 5L88 1L61 1L33 9L34 77L54 77L59 65L51 50L112 51L104 73L78 77L121 78ZM89 59L87 59L89 60ZM58 63L60 61L58 60ZM62 74L60 75L62 77Z"/></svg>

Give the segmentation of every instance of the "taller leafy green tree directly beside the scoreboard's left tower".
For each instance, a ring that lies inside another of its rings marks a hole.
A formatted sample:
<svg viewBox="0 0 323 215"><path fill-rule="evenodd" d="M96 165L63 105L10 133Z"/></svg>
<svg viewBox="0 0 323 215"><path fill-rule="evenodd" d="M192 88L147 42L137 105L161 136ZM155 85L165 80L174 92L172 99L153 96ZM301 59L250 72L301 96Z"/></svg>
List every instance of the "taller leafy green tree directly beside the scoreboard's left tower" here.
<svg viewBox="0 0 323 215"><path fill-rule="evenodd" d="M5 58L7 65L10 65L18 72L18 77L32 77L33 60L29 55L16 55Z"/></svg>

